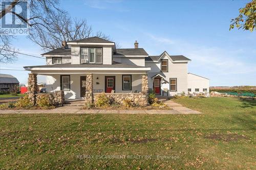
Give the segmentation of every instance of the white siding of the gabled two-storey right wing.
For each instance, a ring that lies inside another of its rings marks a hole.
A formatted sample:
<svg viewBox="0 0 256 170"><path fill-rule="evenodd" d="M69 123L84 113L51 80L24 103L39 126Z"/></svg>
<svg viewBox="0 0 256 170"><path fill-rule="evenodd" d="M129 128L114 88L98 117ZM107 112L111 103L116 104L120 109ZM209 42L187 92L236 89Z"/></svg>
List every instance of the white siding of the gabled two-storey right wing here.
<svg viewBox="0 0 256 170"><path fill-rule="evenodd" d="M173 63L166 55L161 59L168 59L168 72L163 72L165 80L161 82L161 94L164 88L169 90L169 79L177 78L177 91L170 91L170 95L187 92L187 63ZM151 67L149 72L161 72L161 59L159 62L146 62L146 66ZM148 78L148 87L153 89L153 79Z"/></svg>

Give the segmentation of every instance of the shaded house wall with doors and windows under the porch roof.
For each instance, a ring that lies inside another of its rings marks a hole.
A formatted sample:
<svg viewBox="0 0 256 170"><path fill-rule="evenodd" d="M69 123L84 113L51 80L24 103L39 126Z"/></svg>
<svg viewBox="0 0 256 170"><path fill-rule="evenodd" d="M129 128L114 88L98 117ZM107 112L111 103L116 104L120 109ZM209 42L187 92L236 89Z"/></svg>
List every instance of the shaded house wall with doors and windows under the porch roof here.
<svg viewBox="0 0 256 170"><path fill-rule="evenodd" d="M65 99L81 99L86 95L88 74L46 75L47 92L63 90ZM93 93L141 93L142 74L91 74Z"/></svg>

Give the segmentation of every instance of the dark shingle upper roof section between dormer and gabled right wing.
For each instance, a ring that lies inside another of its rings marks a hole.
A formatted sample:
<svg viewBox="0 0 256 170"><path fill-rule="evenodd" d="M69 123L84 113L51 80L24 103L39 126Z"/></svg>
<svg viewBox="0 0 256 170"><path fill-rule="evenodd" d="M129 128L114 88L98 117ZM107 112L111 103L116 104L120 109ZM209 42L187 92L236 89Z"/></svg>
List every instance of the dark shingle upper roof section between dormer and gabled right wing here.
<svg viewBox="0 0 256 170"><path fill-rule="evenodd" d="M119 48L114 56L148 56L143 48Z"/></svg>

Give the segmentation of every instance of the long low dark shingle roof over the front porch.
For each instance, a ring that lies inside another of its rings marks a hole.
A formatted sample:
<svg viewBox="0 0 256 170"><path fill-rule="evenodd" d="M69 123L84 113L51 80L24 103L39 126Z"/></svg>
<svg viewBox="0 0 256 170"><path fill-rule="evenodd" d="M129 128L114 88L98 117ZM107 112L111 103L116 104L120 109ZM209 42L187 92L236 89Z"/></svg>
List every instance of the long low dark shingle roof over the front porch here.
<svg viewBox="0 0 256 170"><path fill-rule="evenodd" d="M143 66L138 65L129 65L124 63L118 63L113 62L113 64L71 64L71 63L65 63L65 64L54 64L54 65L38 65L38 66L25 66L24 68L33 68L33 67L40 67L40 68L59 68L59 67L66 67L66 68L72 68L72 67L109 67L109 68L144 68Z"/></svg>

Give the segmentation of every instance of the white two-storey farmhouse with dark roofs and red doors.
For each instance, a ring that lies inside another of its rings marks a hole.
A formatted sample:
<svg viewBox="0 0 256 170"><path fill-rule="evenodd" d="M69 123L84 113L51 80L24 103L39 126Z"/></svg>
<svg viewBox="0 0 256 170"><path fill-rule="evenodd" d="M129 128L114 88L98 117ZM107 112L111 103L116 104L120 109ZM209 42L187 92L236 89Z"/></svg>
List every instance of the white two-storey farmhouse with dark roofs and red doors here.
<svg viewBox="0 0 256 170"><path fill-rule="evenodd" d="M42 54L46 65L24 68L32 74L46 75L47 91L63 90L66 99L100 92L143 93L147 89L168 96L209 92L208 79L187 73L190 59L167 52L151 56L138 44L136 41L134 48L116 48L115 42L99 37L62 42L61 48Z"/></svg>

